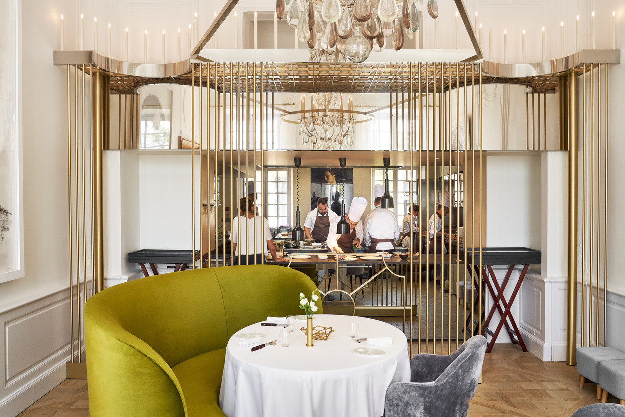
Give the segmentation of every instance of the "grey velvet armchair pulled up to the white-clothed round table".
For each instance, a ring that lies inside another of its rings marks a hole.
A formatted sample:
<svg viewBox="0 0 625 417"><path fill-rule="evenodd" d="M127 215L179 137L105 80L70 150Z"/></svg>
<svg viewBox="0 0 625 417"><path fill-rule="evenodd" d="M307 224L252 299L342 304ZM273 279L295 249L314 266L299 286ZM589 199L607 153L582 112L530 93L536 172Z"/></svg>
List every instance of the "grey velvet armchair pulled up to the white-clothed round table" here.
<svg viewBox="0 0 625 417"><path fill-rule="evenodd" d="M420 353L410 361L411 382L386 390L385 417L466 416L477 391L486 338L474 336L451 355Z"/></svg>

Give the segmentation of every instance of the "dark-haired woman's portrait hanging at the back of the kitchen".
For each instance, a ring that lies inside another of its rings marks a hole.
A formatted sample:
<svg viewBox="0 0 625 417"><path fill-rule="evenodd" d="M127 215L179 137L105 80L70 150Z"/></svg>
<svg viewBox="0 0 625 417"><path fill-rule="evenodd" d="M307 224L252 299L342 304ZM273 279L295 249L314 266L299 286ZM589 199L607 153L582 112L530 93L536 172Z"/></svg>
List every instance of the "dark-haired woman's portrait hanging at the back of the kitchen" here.
<svg viewBox="0 0 625 417"><path fill-rule="evenodd" d="M317 207L319 198L326 198L327 206L341 216L343 198L347 212L353 197L354 175L351 168L311 168L311 209Z"/></svg>

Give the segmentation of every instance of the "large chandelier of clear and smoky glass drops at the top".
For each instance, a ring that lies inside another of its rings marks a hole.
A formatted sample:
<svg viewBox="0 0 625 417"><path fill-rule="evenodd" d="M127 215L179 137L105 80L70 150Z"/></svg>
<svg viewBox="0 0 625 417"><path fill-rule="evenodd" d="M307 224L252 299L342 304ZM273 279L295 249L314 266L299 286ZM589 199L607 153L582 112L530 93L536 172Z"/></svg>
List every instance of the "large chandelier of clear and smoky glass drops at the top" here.
<svg viewBox="0 0 625 417"><path fill-rule="evenodd" d="M419 29L416 2L423 0L277 0L278 19L285 16L297 38L311 49L312 61L344 61L358 64L371 51L383 51L387 36L392 48L404 46ZM427 13L438 17L437 0L427 1ZM341 59L342 58L342 59Z"/></svg>

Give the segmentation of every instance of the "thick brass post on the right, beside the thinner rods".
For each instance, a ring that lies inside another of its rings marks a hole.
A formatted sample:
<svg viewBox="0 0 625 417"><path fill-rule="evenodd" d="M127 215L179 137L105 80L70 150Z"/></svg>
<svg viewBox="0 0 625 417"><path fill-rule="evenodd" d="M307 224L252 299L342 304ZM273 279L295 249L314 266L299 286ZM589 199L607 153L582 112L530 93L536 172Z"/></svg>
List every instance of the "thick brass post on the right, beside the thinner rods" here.
<svg viewBox="0 0 625 417"><path fill-rule="evenodd" d="M569 131L569 242L568 242L568 296L566 328L566 363L576 363L577 336L577 80L568 76L568 131ZM597 298L597 303L598 303Z"/></svg>

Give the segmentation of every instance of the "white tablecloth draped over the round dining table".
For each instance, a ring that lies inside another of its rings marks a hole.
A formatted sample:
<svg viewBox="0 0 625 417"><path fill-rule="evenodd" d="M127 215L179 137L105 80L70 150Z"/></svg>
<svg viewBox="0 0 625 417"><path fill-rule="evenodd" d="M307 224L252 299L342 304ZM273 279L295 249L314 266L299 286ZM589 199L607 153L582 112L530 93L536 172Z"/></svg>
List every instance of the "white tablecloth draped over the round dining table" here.
<svg viewBox="0 0 625 417"><path fill-rule="evenodd" d="M353 352L367 347L347 336L348 321L359 322L358 338L389 336L392 345L377 346L385 353L363 356ZM327 341L306 347L306 335L296 322L291 346L266 346L257 351L239 348L236 334L228 341L221 379L219 407L228 417L380 417L386 388L410 381L406 336L382 321L351 316L319 314L314 324L332 327ZM277 339L279 326L260 323L238 333L256 332Z"/></svg>

